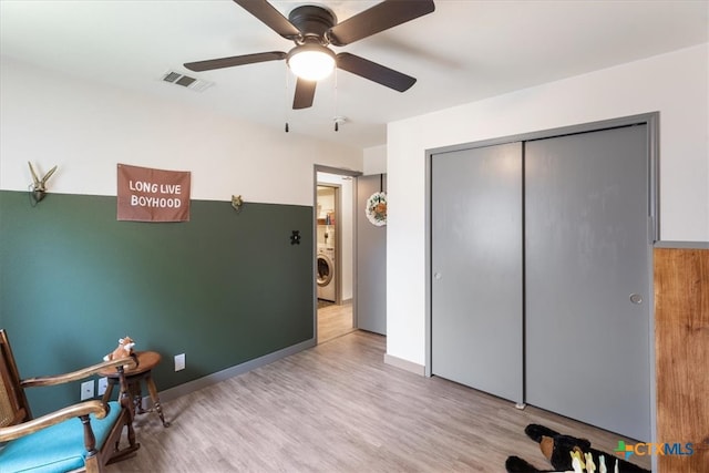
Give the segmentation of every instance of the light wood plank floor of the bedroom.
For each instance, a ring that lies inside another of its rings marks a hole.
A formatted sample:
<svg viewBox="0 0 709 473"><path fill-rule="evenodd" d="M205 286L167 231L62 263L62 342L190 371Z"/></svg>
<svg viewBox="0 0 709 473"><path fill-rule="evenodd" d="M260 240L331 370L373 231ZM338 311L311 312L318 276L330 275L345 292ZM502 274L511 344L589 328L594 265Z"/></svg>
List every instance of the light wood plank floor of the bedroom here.
<svg viewBox="0 0 709 473"><path fill-rule="evenodd" d="M140 415L141 450L109 472L499 473L512 454L551 467L524 434L532 422L608 452L620 439L384 364L384 350L353 331L166 402L172 426Z"/></svg>

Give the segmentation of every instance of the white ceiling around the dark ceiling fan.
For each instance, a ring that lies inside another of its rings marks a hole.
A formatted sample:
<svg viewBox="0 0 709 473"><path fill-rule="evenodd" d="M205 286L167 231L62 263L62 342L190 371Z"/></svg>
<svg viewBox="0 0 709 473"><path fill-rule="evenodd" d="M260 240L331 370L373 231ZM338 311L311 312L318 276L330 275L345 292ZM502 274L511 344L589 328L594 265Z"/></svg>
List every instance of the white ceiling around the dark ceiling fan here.
<svg viewBox="0 0 709 473"><path fill-rule="evenodd" d="M273 1L284 16L302 1ZM321 0L339 21L378 1ZM384 144L386 124L709 41L707 0L436 0L435 11L347 51L418 78L399 93L340 71L315 104L290 110L285 61L193 73L184 62L288 51L230 0L0 0L0 53L165 100L357 147ZM195 92L174 70L214 82ZM337 88L335 84L337 83ZM333 131L335 116L347 122Z"/></svg>

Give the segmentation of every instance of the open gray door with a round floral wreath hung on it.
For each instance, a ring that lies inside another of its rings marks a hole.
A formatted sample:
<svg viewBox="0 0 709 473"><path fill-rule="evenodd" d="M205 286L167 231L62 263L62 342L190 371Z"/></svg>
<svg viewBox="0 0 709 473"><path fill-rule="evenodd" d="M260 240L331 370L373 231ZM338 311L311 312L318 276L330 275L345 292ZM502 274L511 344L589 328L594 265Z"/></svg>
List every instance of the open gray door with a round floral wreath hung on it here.
<svg viewBox="0 0 709 473"><path fill-rule="evenodd" d="M357 328L387 335L387 226L372 225L364 209L376 192L387 191L382 175L357 178Z"/></svg>

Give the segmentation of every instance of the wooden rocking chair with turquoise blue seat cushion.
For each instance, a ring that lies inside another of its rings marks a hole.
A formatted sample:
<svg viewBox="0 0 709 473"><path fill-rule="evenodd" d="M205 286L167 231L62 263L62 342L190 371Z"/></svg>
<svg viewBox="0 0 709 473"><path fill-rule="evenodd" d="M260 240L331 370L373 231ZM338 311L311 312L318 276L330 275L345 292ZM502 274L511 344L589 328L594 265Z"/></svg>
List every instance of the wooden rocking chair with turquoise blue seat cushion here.
<svg viewBox="0 0 709 473"><path fill-rule="evenodd" d="M109 463L133 455L141 446L133 430L133 402L123 366L133 358L106 361L71 373L21 380L7 332L0 329L0 472L102 472ZM91 400L32 418L25 388L76 381L115 368L119 401ZM126 431L127 445L120 449ZM2 442L7 442L2 446Z"/></svg>

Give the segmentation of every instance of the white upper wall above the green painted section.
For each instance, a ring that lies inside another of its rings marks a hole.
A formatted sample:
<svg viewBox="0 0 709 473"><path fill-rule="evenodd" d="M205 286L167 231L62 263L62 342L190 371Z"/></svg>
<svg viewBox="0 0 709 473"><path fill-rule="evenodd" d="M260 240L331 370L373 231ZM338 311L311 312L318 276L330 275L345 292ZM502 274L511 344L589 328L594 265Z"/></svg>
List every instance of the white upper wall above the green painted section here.
<svg viewBox="0 0 709 473"><path fill-rule="evenodd" d="M192 198L312 205L314 164L362 168L362 151L85 82L2 58L0 188L59 165L51 193L115 195L116 164L192 172ZM185 91L185 93L192 93ZM204 93L208 93L208 90Z"/></svg>

